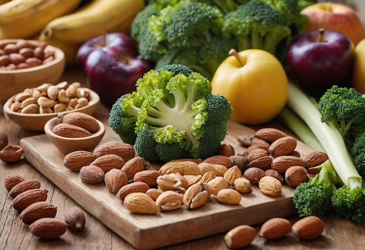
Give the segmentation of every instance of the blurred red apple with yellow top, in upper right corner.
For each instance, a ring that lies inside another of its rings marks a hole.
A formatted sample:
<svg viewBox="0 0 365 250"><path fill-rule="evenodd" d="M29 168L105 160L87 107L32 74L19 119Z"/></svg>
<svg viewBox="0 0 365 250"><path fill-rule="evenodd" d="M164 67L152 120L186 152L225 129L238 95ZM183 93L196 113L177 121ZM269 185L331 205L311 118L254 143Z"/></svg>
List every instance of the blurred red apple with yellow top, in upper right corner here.
<svg viewBox="0 0 365 250"><path fill-rule="evenodd" d="M308 16L306 31L320 28L346 35L356 46L365 38L364 28L356 12L338 3L317 3L304 8L301 14Z"/></svg>

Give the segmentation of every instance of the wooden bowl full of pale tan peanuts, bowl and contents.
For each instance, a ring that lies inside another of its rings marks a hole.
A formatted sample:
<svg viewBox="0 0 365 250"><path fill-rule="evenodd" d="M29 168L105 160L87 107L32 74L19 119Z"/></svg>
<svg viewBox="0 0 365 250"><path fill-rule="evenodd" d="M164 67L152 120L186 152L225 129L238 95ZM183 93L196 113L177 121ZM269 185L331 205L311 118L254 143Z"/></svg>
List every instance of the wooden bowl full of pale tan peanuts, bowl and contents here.
<svg viewBox="0 0 365 250"><path fill-rule="evenodd" d="M45 124L59 114L74 111L92 115L100 97L78 82L43 83L26 88L4 104L5 117L26 130L44 131Z"/></svg>

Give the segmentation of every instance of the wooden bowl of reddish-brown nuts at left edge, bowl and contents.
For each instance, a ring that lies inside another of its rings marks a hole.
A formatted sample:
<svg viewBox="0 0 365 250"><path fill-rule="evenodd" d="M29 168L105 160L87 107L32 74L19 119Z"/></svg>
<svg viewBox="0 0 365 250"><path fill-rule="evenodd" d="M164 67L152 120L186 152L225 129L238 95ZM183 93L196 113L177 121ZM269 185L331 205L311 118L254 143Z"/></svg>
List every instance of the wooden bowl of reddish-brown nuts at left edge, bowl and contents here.
<svg viewBox="0 0 365 250"><path fill-rule="evenodd" d="M25 88L57 82L64 68L65 53L46 42L0 40L0 103Z"/></svg>

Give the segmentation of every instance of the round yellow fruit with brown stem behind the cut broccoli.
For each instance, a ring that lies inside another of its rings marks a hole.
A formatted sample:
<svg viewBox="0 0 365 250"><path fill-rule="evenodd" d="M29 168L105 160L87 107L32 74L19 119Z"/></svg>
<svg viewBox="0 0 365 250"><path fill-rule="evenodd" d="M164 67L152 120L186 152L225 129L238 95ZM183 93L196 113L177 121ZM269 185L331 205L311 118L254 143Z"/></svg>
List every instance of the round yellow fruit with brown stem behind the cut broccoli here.
<svg viewBox="0 0 365 250"><path fill-rule="evenodd" d="M270 53L250 49L233 51L218 67L212 93L231 102L232 118L256 125L272 120L288 97L288 79L283 66Z"/></svg>

